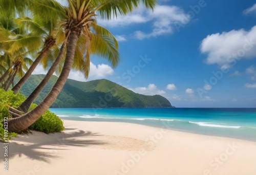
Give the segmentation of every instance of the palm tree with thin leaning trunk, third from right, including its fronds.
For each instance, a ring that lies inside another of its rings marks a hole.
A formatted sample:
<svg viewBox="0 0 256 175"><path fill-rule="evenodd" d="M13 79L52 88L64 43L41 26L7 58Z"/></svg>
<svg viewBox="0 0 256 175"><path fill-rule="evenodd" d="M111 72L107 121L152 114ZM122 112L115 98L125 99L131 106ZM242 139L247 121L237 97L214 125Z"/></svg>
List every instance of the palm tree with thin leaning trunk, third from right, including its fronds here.
<svg viewBox="0 0 256 175"><path fill-rule="evenodd" d="M32 20L29 17L21 17L17 20L19 25L26 25L31 33L36 34L37 37L30 36L28 38L6 40L10 44L9 52L17 51L23 47L35 50L35 48L38 49L41 47L42 41L44 41L44 47L39 52L39 55L29 70L13 87L12 90L16 93L30 77L40 60L46 57L50 53L51 48L55 45L54 29L58 25L57 20L59 16L64 15L62 14L64 10L59 3L53 0L0 0L0 11L3 14L8 13L12 16L17 16L17 14L19 16L33 14L33 19L35 19Z"/></svg>

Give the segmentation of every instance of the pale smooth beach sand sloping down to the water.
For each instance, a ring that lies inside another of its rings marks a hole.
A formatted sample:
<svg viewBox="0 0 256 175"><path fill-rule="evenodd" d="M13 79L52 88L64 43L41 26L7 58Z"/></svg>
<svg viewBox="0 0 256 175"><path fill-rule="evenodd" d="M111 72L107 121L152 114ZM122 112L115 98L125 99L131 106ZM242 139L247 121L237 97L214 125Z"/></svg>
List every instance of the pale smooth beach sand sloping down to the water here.
<svg viewBox="0 0 256 175"><path fill-rule="evenodd" d="M65 131L12 138L0 174L256 174L256 142L131 123L63 120Z"/></svg>

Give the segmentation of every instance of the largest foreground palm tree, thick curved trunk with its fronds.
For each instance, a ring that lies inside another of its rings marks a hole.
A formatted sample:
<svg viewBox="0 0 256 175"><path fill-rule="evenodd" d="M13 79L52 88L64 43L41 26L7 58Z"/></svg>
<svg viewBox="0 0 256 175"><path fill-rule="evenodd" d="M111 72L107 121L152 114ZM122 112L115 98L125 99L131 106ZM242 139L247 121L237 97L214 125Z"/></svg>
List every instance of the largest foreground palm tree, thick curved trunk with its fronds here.
<svg viewBox="0 0 256 175"><path fill-rule="evenodd" d="M96 26L96 11L98 11L100 15L104 15L106 18L110 19L112 14L117 15L117 12L120 14L131 12L134 8L138 7L140 3L143 3L146 8L153 8L156 4L155 0L127 0L122 1L121 3L119 0L68 0L68 2L69 8L65 8L68 14L66 17L65 31L67 33L67 38L69 38L69 43L67 45L65 63L60 76L45 99L32 111L23 116L8 119L8 127L11 132L20 132L29 127L44 114L54 102L69 76L79 37L86 36L87 44L90 46L108 46L97 50L87 50L86 59L90 56L89 54L91 52L98 52L98 55L108 58L114 67L117 65L119 54L118 52L113 52L114 50L117 50L117 43L115 43L114 39L108 40L110 43L112 42L111 46L109 46L106 45L106 42L101 43L101 41L104 41L104 37L99 39L99 37L93 37L91 34L91 27ZM100 29L101 28L96 28L96 30ZM107 39L105 39L105 41L106 40ZM87 72L88 65L84 66L84 70Z"/></svg>

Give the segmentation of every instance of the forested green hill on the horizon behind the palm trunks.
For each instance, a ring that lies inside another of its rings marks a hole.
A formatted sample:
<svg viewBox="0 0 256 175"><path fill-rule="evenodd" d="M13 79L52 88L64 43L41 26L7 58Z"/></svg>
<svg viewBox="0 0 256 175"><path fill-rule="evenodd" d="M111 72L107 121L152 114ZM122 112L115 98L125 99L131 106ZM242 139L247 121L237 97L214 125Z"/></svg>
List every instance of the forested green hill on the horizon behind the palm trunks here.
<svg viewBox="0 0 256 175"><path fill-rule="evenodd" d="M32 75L20 90L26 97L36 88L45 75ZM34 101L39 103L51 90L57 77L48 84ZM160 96L134 93L112 81L101 79L80 82L68 79L51 107L173 107Z"/></svg>

